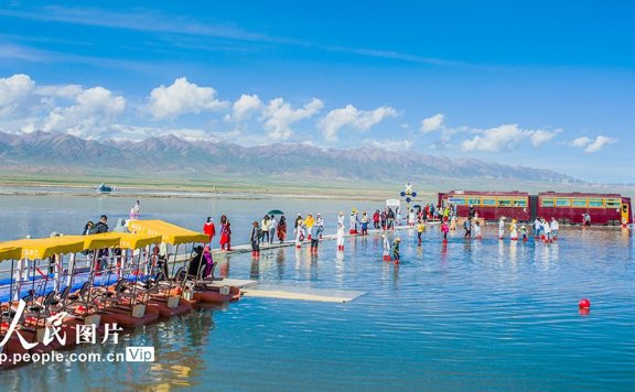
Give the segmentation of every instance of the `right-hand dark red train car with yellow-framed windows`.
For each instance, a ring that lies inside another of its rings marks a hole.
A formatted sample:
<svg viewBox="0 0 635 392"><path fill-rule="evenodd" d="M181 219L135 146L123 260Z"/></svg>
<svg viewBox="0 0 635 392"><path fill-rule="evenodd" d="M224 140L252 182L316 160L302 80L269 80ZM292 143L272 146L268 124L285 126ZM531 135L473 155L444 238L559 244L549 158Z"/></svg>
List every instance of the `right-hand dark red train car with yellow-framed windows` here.
<svg viewBox="0 0 635 392"><path fill-rule="evenodd" d="M564 224L581 225L584 214L591 217L591 225L633 224L631 198L618 194L543 192L535 204L537 216Z"/></svg>

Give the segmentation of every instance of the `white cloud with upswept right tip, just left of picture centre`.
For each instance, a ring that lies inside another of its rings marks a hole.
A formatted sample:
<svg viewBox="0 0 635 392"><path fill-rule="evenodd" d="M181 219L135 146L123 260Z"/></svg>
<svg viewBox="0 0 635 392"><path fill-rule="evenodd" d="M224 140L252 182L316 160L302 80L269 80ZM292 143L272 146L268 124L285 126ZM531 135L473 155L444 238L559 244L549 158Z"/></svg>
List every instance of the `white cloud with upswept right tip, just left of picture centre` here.
<svg viewBox="0 0 635 392"><path fill-rule="evenodd" d="M260 119L265 121L263 127L271 141L284 141L293 134L290 128L292 123L313 117L323 106L320 99L313 98L302 108L294 110L284 99L276 98L263 108Z"/></svg>

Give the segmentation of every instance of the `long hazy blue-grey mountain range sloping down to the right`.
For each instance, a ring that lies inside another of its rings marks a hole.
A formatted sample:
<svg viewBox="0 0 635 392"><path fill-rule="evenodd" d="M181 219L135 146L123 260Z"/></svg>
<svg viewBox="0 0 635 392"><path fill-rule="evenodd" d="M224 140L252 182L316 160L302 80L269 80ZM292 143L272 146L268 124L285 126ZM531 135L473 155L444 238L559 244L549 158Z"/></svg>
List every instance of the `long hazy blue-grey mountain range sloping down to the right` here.
<svg viewBox="0 0 635 392"><path fill-rule="evenodd" d="M575 181L552 171L473 159L449 159L376 148L319 149L309 144L241 146L175 135L139 142L84 140L69 134L0 132L0 170L40 173L126 171L158 177L179 175L286 175L337 179L424 181L430 177Z"/></svg>

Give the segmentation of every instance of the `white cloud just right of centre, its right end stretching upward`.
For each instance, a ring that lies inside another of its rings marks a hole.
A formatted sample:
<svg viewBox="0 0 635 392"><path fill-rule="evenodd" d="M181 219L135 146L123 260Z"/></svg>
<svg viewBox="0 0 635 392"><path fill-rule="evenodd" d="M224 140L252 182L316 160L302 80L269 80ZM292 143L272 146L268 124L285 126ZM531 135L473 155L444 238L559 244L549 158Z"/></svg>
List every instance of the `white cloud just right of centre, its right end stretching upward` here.
<svg viewBox="0 0 635 392"><path fill-rule="evenodd" d="M326 141L334 142L337 141L337 132L343 127L366 131L386 118L396 116L397 110L389 106L375 110L358 110L353 105L347 105L345 108L331 110L320 120L318 127L322 129Z"/></svg>

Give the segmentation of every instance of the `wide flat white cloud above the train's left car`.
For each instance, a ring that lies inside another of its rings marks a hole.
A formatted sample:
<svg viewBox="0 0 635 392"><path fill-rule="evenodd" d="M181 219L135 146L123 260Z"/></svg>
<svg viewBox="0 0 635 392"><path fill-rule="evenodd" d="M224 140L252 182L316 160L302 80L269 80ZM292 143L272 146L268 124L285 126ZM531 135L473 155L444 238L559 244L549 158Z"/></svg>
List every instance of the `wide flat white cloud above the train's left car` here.
<svg viewBox="0 0 635 392"><path fill-rule="evenodd" d="M503 124L480 131L474 138L464 140L463 143L461 143L461 150L484 152L509 151L514 150L517 144L527 139L531 145L539 146L550 141L556 133L557 131L523 130L518 124Z"/></svg>

